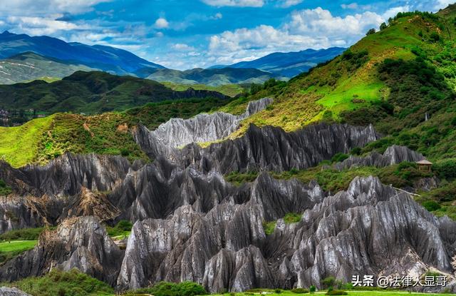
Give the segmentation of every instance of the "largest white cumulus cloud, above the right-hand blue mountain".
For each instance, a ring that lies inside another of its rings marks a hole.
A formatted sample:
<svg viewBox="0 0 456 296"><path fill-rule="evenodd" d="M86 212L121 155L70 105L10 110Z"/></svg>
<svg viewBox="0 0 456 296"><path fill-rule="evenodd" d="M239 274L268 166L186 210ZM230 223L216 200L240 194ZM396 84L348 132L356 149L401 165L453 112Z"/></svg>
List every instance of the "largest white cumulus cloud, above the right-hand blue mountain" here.
<svg viewBox="0 0 456 296"><path fill-rule="evenodd" d="M350 46L368 29L378 27L383 21L382 16L369 11L345 17L333 16L330 11L319 7L294 11L289 21L279 28L261 25L212 36L209 56L216 63L229 63L274 51Z"/></svg>

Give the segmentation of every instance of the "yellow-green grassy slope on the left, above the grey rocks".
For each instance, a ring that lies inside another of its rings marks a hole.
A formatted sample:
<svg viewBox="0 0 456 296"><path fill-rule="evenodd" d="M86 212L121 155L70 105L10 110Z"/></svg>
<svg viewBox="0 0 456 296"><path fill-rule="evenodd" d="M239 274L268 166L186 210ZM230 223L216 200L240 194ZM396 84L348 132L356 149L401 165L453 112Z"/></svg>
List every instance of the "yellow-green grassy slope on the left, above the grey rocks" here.
<svg viewBox="0 0 456 296"><path fill-rule="evenodd" d="M190 118L225 103L219 99L193 99L148 103L125 112L96 116L56 113L24 126L0 128L0 157L16 168L28 163L45 164L67 151L147 160L130 133L132 128L143 124L154 129L170 118Z"/></svg>

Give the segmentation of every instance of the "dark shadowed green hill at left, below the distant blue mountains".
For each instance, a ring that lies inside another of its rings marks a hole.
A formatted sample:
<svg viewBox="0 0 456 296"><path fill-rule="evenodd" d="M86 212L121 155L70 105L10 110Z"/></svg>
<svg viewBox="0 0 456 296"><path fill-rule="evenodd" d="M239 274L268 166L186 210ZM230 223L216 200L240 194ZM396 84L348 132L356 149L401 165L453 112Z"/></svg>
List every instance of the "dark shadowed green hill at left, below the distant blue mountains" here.
<svg viewBox="0 0 456 296"><path fill-rule="evenodd" d="M191 96L176 93L155 81L78 71L52 83L32 81L0 85L0 108L95 114ZM207 93L202 96L221 95Z"/></svg>

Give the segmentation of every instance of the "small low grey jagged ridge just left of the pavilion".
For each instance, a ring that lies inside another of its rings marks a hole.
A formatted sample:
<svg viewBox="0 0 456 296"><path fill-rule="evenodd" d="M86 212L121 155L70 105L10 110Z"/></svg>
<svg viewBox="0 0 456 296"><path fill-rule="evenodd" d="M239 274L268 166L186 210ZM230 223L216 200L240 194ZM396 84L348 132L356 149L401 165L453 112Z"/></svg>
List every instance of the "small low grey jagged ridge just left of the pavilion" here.
<svg viewBox="0 0 456 296"><path fill-rule="evenodd" d="M388 147L383 155L375 151L366 157L350 155L346 160L334 164L333 168L336 170L346 170L348 168L360 166L384 168L385 166L395 165L396 163L402 163L403 161L416 162L423 159L425 159L425 157L421 153L410 150L405 146L393 145Z"/></svg>

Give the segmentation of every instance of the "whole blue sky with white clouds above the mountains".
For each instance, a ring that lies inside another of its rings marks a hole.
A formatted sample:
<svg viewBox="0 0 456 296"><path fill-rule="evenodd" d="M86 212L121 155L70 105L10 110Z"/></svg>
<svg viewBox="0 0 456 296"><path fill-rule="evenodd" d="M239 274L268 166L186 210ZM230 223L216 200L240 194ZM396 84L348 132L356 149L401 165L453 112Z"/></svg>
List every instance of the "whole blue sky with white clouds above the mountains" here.
<svg viewBox="0 0 456 296"><path fill-rule="evenodd" d="M204 68L275 51L347 47L399 11L437 11L453 1L14 0L1 4L0 31L115 46L169 68Z"/></svg>

